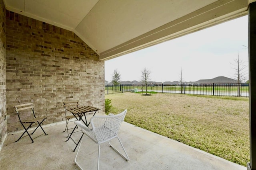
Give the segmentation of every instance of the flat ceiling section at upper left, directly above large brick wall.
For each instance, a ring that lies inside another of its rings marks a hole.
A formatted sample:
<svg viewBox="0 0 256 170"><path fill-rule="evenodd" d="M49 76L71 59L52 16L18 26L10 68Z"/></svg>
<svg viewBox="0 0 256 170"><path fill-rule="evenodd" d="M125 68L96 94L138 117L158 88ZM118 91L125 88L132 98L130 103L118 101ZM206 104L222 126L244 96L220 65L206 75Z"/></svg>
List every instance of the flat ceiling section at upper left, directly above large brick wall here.
<svg viewBox="0 0 256 170"><path fill-rule="evenodd" d="M74 31L98 0L4 0L6 9Z"/></svg>

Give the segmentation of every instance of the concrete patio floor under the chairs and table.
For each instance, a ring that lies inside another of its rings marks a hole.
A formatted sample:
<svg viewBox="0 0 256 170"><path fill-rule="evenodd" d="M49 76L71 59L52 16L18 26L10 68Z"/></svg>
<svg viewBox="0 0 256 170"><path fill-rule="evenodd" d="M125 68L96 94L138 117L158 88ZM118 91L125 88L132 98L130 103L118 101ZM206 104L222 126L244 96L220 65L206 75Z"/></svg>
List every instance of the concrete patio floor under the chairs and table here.
<svg viewBox="0 0 256 170"><path fill-rule="evenodd" d="M74 162L76 152L72 140L66 141L65 123L44 126L48 135L39 129L30 138L20 137L20 133L9 134L0 151L1 170L76 170ZM74 133L72 137L78 141L82 133ZM104 170L246 170L228 160L224 160L202 150L184 145L156 133L123 122L119 131L129 161L124 160L112 150L108 143L101 145L100 169ZM113 139L114 146L118 140ZM118 147L117 147L118 149ZM77 151L78 149L76 149ZM78 163L84 169L97 168L98 145L88 137L84 137L78 154Z"/></svg>

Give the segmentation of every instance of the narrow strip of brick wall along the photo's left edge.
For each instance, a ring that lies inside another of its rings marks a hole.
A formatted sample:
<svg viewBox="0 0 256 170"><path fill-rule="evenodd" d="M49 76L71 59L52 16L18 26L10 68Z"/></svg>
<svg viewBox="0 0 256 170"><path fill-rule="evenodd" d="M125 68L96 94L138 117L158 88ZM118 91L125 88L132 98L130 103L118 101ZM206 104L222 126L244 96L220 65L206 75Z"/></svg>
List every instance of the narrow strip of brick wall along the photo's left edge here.
<svg viewBox="0 0 256 170"><path fill-rule="evenodd" d="M0 150L6 137L6 35L5 35L5 7L0 0Z"/></svg>

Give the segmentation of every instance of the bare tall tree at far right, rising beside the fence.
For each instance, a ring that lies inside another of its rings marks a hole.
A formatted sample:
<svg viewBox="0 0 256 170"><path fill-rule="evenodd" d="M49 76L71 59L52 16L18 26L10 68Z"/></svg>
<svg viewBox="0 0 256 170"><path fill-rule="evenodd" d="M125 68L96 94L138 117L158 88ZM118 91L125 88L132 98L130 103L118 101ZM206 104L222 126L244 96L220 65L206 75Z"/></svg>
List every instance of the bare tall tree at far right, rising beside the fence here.
<svg viewBox="0 0 256 170"><path fill-rule="evenodd" d="M235 78L238 83L237 96L241 96L240 83L244 82L247 71L246 71L246 64L239 59L239 53L237 55L237 59L234 59L234 64L232 65L234 66L233 69L235 70Z"/></svg>

